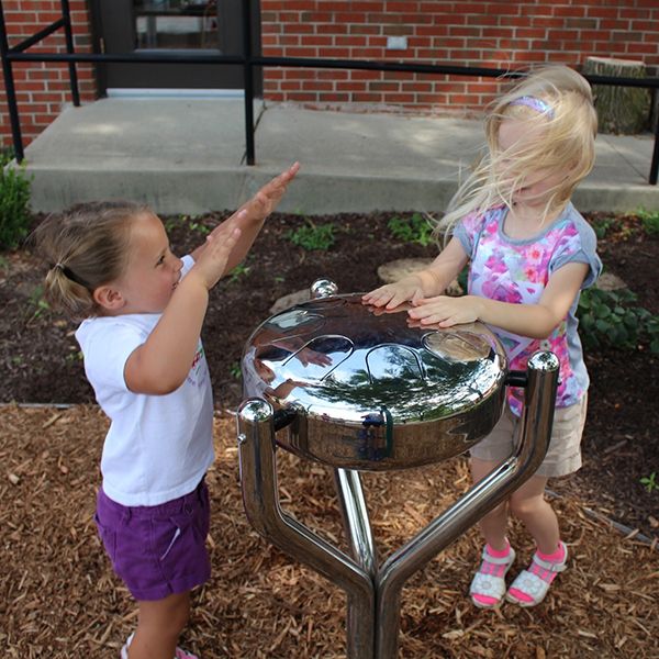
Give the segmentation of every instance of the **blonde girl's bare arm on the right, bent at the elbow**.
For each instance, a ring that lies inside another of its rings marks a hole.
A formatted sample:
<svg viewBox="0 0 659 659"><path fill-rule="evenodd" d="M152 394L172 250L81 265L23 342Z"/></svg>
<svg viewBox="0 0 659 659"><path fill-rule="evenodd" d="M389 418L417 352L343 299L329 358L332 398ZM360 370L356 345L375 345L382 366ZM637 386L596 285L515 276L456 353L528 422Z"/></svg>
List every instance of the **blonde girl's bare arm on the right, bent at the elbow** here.
<svg viewBox="0 0 659 659"><path fill-rule="evenodd" d="M410 310L410 317L424 325L438 323L442 327L482 321L520 336L546 338L568 314L588 268L587 264L572 263L556 270L537 304L513 304L476 295L440 295L418 300Z"/></svg>

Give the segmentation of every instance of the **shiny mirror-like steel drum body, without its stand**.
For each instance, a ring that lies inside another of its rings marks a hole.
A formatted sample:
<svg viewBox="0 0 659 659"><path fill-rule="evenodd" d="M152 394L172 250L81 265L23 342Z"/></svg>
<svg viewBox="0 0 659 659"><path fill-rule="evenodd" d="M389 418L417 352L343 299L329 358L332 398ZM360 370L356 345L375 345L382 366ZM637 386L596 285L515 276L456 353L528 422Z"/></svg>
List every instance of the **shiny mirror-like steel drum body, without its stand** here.
<svg viewBox="0 0 659 659"><path fill-rule="evenodd" d="M334 467L384 470L447 459L492 429L507 371L498 338L481 323L422 327L406 310L332 295L257 327L244 394L295 410L278 444Z"/></svg>

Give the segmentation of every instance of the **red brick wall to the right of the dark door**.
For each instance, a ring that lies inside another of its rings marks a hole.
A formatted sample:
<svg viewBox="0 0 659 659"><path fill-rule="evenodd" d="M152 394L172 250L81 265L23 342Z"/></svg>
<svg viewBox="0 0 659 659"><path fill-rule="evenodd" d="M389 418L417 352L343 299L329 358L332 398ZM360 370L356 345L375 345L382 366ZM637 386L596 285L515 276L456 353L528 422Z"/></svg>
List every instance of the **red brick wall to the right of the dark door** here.
<svg viewBox="0 0 659 659"><path fill-rule="evenodd" d="M659 67L658 0L261 0L266 56L401 60L520 68L579 67L588 56ZM403 37L406 48L388 49ZM654 69L652 69L654 67ZM311 108L353 103L469 114L498 92L493 78L267 68L264 94ZM371 105L372 107L372 105ZM351 108L355 109L355 108Z"/></svg>

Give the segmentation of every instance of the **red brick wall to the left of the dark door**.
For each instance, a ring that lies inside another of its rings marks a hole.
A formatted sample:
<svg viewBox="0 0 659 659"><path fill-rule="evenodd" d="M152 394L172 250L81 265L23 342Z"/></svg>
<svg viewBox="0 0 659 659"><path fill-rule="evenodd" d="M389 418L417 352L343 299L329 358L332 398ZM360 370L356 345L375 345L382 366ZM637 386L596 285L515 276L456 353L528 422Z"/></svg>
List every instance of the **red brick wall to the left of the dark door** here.
<svg viewBox="0 0 659 659"><path fill-rule="evenodd" d="M62 18L58 0L7 0L2 5L10 47ZM69 7L76 51L89 52L91 36L87 2L70 0ZM30 48L30 53L40 51L65 53L64 31L58 30ZM80 100L85 102L94 99L97 93L92 67L79 64L77 71ZM23 143L27 145L59 114L65 103L71 102L68 66L54 63L14 63L13 74ZM4 91L1 70L0 85ZM3 147L12 143L4 93L0 94L0 139Z"/></svg>

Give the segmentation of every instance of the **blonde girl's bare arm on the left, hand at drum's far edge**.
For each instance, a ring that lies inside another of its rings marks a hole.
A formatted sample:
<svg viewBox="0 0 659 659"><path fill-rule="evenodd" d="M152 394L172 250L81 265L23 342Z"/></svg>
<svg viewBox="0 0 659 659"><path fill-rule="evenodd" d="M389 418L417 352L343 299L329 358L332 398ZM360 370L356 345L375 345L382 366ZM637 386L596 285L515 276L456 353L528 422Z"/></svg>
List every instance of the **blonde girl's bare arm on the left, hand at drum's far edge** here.
<svg viewBox="0 0 659 659"><path fill-rule="evenodd" d="M467 260L468 256L460 241L451 238L427 268L370 291L362 300L366 304L393 309L410 300L415 302L422 298L439 295L458 276Z"/></svg>

